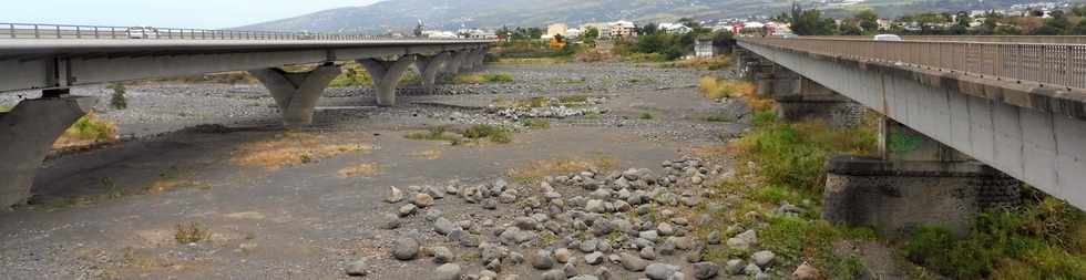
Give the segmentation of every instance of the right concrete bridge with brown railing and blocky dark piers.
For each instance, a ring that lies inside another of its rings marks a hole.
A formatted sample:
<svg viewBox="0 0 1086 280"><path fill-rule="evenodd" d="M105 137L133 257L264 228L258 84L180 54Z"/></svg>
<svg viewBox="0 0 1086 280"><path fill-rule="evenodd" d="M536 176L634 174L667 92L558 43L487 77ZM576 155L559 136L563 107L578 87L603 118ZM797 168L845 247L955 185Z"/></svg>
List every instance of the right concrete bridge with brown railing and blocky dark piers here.
<svg viewBox="0 0 1086 280"><path fill-rule="evenodd" d="M894 234L920 224L965 230L976 211L1013 204L1017 180L1086 208L1084 42L741 38L738 44L740 66L786 120L851 125L863 107L881 114L880 156L828 164L823 217Z"/></svg>

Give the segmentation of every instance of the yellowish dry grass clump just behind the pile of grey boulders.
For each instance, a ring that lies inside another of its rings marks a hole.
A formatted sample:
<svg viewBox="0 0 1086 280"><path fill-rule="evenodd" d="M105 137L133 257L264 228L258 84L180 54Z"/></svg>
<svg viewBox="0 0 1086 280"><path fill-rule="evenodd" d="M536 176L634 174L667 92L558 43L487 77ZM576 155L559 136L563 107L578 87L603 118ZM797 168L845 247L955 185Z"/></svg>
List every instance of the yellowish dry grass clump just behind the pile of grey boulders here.
<svg viewBox="0 0 1086 280"><path fill-rule="evenodd" d="M536 183L545 176L583 172L590 168L614 170L618 168L618 159L604 155L596 158L553 158L530 163L524 168L509 169L505 175L521 184Z"/></svg>

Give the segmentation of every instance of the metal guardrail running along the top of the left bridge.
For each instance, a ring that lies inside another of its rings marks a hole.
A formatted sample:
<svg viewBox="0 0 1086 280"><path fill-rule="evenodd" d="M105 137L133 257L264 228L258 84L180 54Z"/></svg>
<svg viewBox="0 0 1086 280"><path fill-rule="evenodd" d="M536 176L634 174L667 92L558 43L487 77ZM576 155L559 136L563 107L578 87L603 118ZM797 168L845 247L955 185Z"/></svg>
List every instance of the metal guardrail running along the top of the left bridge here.
<svg viewBox="0 0 1086 280"><path fill-rule="evenodd" d="M177 29L152 27L95 27L39 23L0 23L3 39L140 39L140 40L325 40L357 41L370 39L398 39L393 37L358 34L321 34L308 32L237 31ZM412 38L402 38L412 39ZM428 40L462 40L429 39Z"/></svg>

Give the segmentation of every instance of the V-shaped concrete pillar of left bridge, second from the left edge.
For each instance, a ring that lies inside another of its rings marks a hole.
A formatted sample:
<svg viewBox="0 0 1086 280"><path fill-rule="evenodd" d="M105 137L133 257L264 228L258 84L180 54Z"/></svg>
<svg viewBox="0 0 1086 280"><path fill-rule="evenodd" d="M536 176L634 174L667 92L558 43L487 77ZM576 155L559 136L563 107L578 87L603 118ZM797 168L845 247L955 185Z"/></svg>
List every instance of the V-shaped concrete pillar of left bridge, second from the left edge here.
<svg viewBox="0 0 1086 280"><path fill-rule="evenodd" d="M283 113L283 125L296 128L313 124L313 110L328 84L341 71L327 64L306 73L287 73L283 69L249 71L268 89Z"/></svg>

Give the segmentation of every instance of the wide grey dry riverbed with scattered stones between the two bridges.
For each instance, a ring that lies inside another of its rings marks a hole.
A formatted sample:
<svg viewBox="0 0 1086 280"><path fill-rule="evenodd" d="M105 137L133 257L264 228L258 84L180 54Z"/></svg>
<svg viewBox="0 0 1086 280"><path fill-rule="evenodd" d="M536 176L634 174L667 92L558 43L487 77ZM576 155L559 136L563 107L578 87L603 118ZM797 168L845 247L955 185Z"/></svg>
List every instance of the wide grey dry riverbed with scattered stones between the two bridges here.
<svg viewBox="0 0 1086 280"><path fill-rule="evenodd" d="M331 89L316 124L296 132L281 131L259 85L130 85L130 108L100 114L125 141L50 158L32 203L0 214L0 279L730 279L795 269L773 266L751 230L699 228L711 218L698 214L723 207L706 186L732 173L697 152L748 127L741 106L695 86L727 73L622 63L483 72L514 80L439 95L408 85L388 108L370 106L368 89ZM754 257L703 262L719 246L749 246Z"/></svg>

